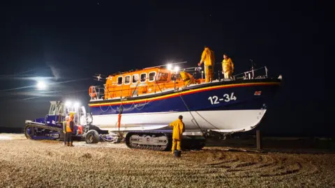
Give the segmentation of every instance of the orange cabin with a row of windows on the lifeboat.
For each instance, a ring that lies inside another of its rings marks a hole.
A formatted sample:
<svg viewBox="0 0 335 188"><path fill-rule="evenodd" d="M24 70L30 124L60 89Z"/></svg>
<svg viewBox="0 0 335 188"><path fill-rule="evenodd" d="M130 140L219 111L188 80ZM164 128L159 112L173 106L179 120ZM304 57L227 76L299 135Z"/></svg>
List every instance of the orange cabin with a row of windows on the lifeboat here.
<svg viewBox="0 0 335 188"><path fill-rule="evenodd" d="M185 86L179 73L166 68L144 68L106 78L104 99L135 97Z"/></svg>

